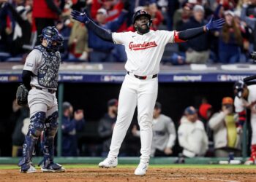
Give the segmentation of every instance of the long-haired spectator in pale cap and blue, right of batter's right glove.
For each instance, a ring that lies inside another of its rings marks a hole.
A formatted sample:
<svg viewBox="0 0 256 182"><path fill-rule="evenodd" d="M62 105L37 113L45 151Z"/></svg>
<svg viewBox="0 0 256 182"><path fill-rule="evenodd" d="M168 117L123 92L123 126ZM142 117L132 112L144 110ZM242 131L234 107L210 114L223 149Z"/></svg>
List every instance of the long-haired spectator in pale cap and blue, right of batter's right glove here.
<svg viewBox="0 0 256 182"><path fill-rule="evenodd" d="M225 11L225 20L226 23L219 35L219 61L220 63L238 63L243 45L241 30L236 25L234 12Z"/></svg>

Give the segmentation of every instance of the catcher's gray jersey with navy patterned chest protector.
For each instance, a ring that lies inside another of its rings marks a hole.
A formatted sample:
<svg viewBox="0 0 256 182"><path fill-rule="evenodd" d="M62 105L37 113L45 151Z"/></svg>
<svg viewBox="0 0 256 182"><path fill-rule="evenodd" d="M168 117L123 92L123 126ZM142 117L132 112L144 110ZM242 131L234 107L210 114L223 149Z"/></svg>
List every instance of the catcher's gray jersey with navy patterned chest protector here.
<svg viewBox="0 0 256 182"><path fill-rule="evenodd" d="M47 52L45 47L39 45L29 53L23 70L34 74L31 84L42 88L57 89L60 63L59 52Z"/></svg>

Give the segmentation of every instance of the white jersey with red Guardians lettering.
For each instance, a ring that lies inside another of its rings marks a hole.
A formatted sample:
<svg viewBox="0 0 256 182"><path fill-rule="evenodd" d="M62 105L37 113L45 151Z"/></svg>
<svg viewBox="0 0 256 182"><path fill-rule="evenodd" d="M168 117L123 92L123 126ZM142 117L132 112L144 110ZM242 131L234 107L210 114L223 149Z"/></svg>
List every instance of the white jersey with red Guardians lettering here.
<svg viewBox="0 0 256 182"><path fill-rule="evenodd" d="M167 43L174 42L174 31L112 33L115 44L123 44L127 53L125 69L132 74L148 76L158 74L159 63Z"/></svg>

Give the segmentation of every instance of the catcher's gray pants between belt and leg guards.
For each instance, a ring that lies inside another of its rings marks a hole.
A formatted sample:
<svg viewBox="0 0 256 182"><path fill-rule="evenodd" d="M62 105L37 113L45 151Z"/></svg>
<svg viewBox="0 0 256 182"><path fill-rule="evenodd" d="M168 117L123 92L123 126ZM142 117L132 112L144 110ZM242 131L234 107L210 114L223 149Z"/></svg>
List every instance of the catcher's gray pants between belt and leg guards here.
<svg viewBox="0 0 256 182"><path fill-rule="evenodd" d="M58 103L56 93L45 92L32 88L29 91L28 103L30 109L30 117L37 112L45 112L46 118L58 111Z"/></svg>

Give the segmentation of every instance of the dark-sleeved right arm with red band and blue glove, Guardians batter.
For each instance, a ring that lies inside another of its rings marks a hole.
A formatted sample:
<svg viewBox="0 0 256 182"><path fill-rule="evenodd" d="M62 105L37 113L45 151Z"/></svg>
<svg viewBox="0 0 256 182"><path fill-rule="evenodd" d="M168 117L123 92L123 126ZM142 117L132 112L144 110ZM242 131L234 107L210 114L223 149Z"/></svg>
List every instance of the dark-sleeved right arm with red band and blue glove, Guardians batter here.
<svg viewBox="0 0 256 182"><path fill-rule="evenodd" d="M187 41L189 39L193 39L196 36L200 36L203 33L206 33L207 31L214 31L218 30L219 28L222 28L223 24L225 23L225 20L223 18L218 20L211 20L204 26L199 28L191 28L187 29L186 31L180 31L176 33L176 42L182 42Z"/></svg>

